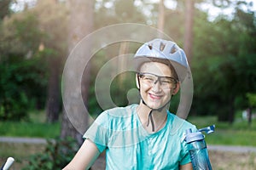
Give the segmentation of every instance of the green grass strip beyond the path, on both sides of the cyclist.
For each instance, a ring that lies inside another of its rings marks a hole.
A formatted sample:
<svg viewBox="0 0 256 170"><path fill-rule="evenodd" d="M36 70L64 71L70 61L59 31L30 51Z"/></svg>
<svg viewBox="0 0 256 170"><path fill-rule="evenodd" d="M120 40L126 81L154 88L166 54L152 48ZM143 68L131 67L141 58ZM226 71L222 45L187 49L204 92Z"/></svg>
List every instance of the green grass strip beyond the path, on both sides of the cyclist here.
<svg viewBox="0 0 256 170"><path fill-rule="evenodd" d="M0 122L0 135L51 139L61 133L61 123L46 123L44 111L30 113L29 120L29 122ZM198 128L215 124L215 132L206 135L207 144L256 146L256 119L251 126L239 116L236 116L236 121L231 125L227 122L218 122L216 116L189 116L189 122Z"/></svg>

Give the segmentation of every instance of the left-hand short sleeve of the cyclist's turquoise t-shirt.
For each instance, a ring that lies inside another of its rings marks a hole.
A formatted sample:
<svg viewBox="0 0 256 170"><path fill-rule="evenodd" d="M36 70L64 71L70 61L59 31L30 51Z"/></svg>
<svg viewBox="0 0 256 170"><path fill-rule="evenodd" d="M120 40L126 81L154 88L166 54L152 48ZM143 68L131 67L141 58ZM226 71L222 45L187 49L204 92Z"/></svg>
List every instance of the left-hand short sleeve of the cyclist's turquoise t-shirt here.
<svg viewBox="0 0 256 170"><path fill-rule="evenodd" d="M108 111L102 112L84 133L84 139L94 142L100 152L108 145Z"/></svg>

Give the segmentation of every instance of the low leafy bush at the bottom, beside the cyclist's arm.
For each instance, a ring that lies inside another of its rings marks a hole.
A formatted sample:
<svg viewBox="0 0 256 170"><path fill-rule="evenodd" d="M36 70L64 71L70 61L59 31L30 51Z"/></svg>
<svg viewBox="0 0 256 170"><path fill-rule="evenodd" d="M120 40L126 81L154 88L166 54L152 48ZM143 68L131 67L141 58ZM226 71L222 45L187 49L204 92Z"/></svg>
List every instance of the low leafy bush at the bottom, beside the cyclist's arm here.
<svg viewBox="0 0 256 170"><path fill-rule="evenodd" d="M61 169L72 160L79 146L71 138L48 140L44 152L30 156L25 170L52 170Z"/></svg>

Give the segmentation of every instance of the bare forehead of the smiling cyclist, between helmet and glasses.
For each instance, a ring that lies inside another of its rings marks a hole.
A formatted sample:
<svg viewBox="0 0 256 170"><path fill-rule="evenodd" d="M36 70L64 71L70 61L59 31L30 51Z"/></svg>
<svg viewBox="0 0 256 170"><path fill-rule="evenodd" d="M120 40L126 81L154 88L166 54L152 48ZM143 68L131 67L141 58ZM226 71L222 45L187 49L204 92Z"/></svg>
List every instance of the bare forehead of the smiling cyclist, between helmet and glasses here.
<svg viewBox="0 0 256 170"><path fill-rule="evenodd" d="M172 71L168 65L159 62L146 62L141 66L140 71L155 74L161 77L171 77Z"/></svg>

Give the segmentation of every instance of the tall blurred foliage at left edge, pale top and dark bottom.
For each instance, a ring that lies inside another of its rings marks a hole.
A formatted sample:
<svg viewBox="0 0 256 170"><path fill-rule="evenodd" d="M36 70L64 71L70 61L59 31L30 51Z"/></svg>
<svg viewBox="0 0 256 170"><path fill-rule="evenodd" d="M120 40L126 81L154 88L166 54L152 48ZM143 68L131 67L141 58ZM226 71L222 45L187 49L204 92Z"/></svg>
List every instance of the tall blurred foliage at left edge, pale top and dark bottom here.
<svg viewBox="0 0 256 170"><path fill-rule="evenodd" d="M27 12L1 25L0 120L26 119L28 110L44 105L46 63L38 55L42 35L37 17Z"/></svg>

